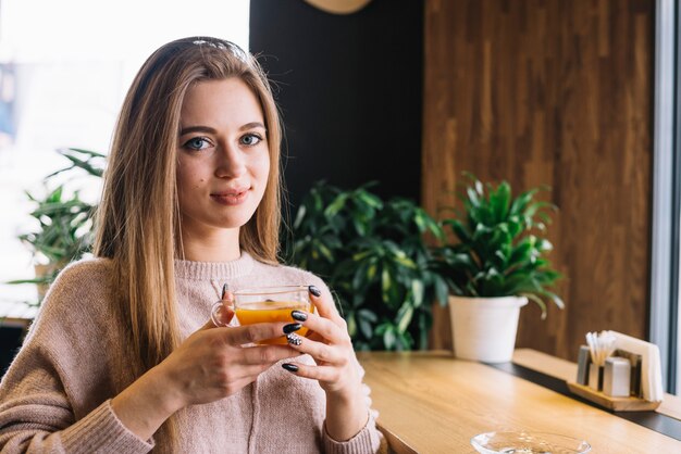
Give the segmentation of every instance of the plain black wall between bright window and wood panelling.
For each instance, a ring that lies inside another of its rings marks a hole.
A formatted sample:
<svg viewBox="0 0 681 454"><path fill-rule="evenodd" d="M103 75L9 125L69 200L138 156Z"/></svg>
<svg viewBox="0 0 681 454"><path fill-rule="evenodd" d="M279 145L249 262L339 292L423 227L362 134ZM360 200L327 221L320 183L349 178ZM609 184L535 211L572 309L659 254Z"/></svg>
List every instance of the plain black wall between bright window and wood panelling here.
<svg viewBox="0 0 681 454"><path fill-rule="evenodd" d="M419 200L423 0L374 0L350 15L251 0L250 51L277 86L294 205L319 179L377 180L383 197Z"/></svg>

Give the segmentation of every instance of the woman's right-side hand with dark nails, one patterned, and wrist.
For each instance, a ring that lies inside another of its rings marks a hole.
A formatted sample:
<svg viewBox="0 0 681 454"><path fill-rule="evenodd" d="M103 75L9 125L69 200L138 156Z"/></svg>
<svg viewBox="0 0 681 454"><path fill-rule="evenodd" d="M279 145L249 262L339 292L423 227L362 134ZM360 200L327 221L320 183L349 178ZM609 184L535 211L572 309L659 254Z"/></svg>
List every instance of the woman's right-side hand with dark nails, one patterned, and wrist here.
<svg viewBox="0 0 681 454"><path fill-rule="evenodd" d="M347 324L336 311L331 294L310 286L310 299L317 314L294 311L292 316L313 333L302 338L292 332L286 339L293 349L312 356L317 365L285 363L282 366L299 377L319 381L326 392L326 431L335 440L349 440L369 417L360 367Z"/></svg>

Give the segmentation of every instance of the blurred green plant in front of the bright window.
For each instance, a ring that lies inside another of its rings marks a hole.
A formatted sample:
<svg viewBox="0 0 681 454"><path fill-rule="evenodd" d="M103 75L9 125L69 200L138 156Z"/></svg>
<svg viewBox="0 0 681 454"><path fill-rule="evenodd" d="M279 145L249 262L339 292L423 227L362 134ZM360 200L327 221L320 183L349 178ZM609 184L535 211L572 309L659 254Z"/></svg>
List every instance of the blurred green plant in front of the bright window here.
<svg viewBox="0 0 681 454"><path fill-rule="evenodd" d="M92 242L91 227L95 205L81 199L79 191L69 192L64 184L54 189L50 186L57 175L79 169L82 175L101 177L104 155L95 151L75 148L60 149L60 154L70 161L70 165L45 177L45 196L26 191L35 209L30 215L36 220L36 228L22 234L18 239L33 252L36 277L12 280L8 283L35 283L38 286L40 304L49 285L59 272L71 261L81 258L89 252Z"/></svg>

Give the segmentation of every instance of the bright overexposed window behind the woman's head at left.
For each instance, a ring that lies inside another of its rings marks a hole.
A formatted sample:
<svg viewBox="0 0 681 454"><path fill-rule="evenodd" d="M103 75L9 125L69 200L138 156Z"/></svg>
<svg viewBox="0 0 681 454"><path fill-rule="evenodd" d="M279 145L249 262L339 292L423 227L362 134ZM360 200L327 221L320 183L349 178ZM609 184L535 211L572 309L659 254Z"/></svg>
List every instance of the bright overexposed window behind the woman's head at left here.
<svg viewBox="0 0 681 454"><path fill-rule="evenodd" d="M172 39L208 35L248 49L248 0L1 0L0 282L34 276L17 240L35 228L25 190L67 165L58 148L107 152L117 111L144 60ZM69 181L96 201L99 181ZM0 283L0 317L32 317L35 286Z"/></svg>

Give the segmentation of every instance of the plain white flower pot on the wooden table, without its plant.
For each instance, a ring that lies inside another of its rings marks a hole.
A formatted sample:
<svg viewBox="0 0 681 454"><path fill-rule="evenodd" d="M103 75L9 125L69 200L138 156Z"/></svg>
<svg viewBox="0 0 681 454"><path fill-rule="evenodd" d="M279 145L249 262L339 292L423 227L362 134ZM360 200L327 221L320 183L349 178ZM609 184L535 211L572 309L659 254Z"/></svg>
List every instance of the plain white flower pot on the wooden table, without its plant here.
<svg viewBox="0 0 681 454"><path fill-rule="evenodd" d="M454 355L483 363L506 363L513 356L524 297L449 297Z"/></svg>

